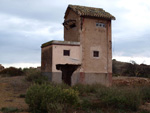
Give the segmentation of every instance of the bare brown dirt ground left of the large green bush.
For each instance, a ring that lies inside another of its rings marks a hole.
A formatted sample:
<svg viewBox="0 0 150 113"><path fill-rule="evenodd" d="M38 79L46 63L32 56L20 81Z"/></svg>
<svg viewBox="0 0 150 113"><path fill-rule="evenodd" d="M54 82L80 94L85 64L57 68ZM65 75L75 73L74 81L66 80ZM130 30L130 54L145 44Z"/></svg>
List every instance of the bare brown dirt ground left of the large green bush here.
<svg viewBox="0 0 150 113"><path fill-rule="evenodd" d="M13 107L26 113L28 106L20 95L24 95L28 87L24 76L0 77L0 109Z"/></svg>

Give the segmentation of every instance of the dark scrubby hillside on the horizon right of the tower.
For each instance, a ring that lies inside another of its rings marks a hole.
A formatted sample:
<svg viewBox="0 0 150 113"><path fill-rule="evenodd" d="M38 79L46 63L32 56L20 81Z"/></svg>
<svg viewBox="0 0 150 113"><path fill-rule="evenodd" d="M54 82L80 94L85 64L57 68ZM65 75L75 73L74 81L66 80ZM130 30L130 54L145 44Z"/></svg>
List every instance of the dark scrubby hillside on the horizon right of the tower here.
<svg viewBox="0 0 150 113"><path fill-rule="evenodd" d="M131 63L112 60L112 70L114 76L132 76L150 78L150 65L137 64L134 61Z"/></svg>

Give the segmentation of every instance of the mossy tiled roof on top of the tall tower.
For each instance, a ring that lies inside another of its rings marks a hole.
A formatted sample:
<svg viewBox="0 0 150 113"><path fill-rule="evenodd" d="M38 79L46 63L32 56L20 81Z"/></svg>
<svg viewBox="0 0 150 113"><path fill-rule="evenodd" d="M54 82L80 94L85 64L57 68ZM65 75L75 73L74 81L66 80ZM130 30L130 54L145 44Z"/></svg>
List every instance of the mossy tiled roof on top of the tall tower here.
<svg viewBox="0 0 150 113"><path fill-rule="evenodd" d="M78 6L78 5L69 5L68 8L72 9L80 16L89 16L89 17L98 17L115 20L115 17L110 13L106 12L101 8Z"/></svg>

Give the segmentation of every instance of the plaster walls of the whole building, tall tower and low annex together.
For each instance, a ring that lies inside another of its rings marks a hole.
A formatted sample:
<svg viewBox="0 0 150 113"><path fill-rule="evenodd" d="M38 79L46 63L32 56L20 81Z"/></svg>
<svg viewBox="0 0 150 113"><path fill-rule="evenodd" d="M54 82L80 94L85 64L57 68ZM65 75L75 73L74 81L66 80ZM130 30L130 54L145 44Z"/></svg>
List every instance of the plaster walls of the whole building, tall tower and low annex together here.
<svg viewBox="0 0 150 113"><path fill-rule="evenodd" d="M61 83L62 72L56 69L57 64L81 64L72 75L72 85L111 85L111 20L80 17L72 10L65 16L65 21L69 19L76 20L76 27L68 30L64 28L64 40L80 42L80 46L52 45L43 48L42 70L51 72L51 81ZM96 23L104 23L106 26L97 27ZM70 56L63 56L63 50L70 50ZM99 51L99 57L93 57L93 51Z"/></svg>

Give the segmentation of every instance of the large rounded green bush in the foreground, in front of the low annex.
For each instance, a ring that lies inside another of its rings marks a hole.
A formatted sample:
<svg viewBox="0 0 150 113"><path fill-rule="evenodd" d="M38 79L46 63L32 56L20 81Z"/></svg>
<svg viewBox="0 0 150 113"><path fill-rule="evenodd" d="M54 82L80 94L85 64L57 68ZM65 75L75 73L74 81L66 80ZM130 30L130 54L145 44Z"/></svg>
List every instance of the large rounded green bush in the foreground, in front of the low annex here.
<svg viewBox="0 0 150 113"><path fill-rule="evenodd" d="M69 88L62 89L51 84L32 85L25 98L29 108L34 113L61 112L68 106L79 102L78 92Z"/></svg>

